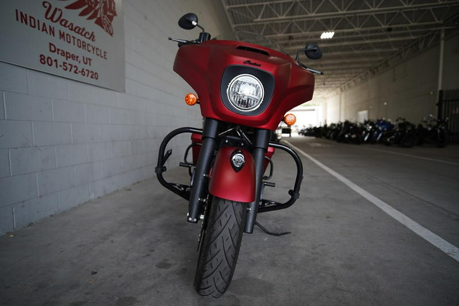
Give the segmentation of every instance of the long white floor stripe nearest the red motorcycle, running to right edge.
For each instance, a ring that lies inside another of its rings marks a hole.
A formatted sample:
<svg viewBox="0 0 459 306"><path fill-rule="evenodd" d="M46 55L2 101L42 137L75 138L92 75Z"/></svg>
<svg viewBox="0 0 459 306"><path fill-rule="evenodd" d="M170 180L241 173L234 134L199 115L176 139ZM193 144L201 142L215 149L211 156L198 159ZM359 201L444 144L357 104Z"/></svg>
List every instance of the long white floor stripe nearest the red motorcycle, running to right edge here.
<svg viewBox="0 0 459 306"><path fill-rule="evenodd" d="M312 162L317 164L320 168L322 168L323 170L325 170L329 174L331 174L334 177L336 177L337 179L339 179L341 182L346 184L349 188L351 188L355 192L359 193L362 197L364 197L365 199L367 199L368 201L370 201L371 203L373 203L374 205L376 205L377 207L382 209L384 212L386 212L388 215L390 215L391 217L393 217L397 221L399 221L405 227L409 228L410 230L412 230L413 232L415 232L416 234L418 234L419 236L421 236L422 238L424 238L425 240L427 240L431 244L435 245L436 247L441 249L441 251L443 251L447 255L451 256L452 258L454 258L456 261L459 261L459 248L457 248L456 246L452 245L448 241L444 240L440 236L437 236L436 234L430 232L429 230L427 230L426 228L424 228L423 226L418 224L418 222L416 222L413 219L411 219L411 218L407 217L406 215L402 214L401 212L399 212L398 210L396 210L395 208L393 208L392 206L390 206L386 202L381 201L380 199L376 198L375 196L373 196L373 194L369 193L368 191L366 191L365 189L359 187L358 185L352 183L351 181L346 179L341 174L339 174L336 171L328 168L326 165L324 165L323 163L321 163L320 161L318 161L317 159L315 159L311 155L301 151L299 148L293 146L288 141L285 141L285 142L289 146L294 148L297 152L299 152L303 156L309 158Z"/></svg>

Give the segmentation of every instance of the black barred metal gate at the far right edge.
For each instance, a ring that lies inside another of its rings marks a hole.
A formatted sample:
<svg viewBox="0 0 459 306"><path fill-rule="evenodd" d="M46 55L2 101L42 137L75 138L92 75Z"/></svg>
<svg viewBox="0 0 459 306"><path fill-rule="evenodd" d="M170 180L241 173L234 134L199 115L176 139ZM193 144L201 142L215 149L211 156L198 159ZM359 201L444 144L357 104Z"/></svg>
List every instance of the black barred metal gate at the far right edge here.
<svg viewBox="0 0 459 306"><path fill-rule="evenodd" d="M459 143L459 89L440 91L437 118L448 118L450 141Z"/></svg>

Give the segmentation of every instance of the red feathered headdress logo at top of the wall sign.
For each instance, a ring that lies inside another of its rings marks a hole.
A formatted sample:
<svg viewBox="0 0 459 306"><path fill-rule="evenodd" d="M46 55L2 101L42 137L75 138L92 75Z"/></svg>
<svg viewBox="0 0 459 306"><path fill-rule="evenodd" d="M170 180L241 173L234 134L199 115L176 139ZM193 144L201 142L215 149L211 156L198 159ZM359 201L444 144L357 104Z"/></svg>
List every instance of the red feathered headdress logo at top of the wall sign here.
<svg viewBox="0 0 459 306"><path fill-rule="evenodd" d="M61 0L67 1L67 0ZM77 0L65 7L70 10L83 11L79 16L88 16L86 19L95 19L94 23L104 29L105 32L113 36L112 21L116 15L115 0Z"/></svg>

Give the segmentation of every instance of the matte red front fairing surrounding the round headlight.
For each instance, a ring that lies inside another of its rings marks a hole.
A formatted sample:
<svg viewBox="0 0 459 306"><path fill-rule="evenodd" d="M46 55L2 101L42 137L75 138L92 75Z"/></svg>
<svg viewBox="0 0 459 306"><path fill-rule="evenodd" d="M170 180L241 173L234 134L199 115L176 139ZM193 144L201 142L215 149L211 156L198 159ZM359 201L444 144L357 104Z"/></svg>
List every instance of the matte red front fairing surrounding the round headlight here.
<svg viewBox="0 0 459 306"><path fill-rule="evenodd" d="M240 46L262 50L269 55L237 49ZM270 101L263 102L269 104L261 114L239 115L223 104L221 76L230 65L257 68L274 76L273 96ZM311 100L314 92L314 75L288 55L237 41L210 40L184 45L177 51L174 71L196 91L203 117L268 130L274 130L290 109Z"/></svg>

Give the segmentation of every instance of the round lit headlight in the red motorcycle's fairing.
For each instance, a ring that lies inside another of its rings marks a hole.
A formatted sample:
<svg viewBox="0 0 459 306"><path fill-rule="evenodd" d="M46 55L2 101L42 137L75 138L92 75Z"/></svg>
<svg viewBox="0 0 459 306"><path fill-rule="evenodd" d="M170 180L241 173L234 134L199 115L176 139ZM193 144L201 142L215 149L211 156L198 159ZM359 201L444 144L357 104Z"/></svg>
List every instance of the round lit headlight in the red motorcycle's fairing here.
<svg viewBox="0 0 459 306"><path fill-rule="evenodd" d="M226 94L234 107L248 112L260 106L265 91L258 78L250 74L240 74L231 80Z"/></svg>

